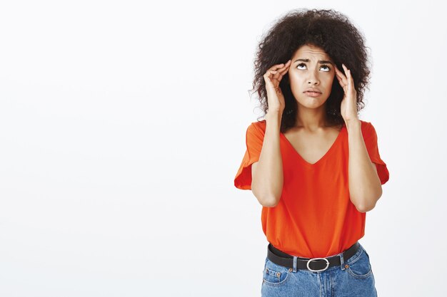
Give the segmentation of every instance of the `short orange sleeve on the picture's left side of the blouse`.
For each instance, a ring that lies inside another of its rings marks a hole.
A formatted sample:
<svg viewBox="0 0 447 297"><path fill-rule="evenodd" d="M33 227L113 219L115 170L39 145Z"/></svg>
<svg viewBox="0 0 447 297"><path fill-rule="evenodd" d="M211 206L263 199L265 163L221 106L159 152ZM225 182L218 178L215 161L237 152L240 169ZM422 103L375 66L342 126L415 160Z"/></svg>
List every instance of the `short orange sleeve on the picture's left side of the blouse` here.
<svg viewBox="0 0 447 297"><path fill-rule="evenodd" d="M239 166L236 177L234 177L234 186L238 189L251 189L251 165L259 160L263 144L264 132L251 123L246 130L246 151L243 155L241 165Z"/></svg>

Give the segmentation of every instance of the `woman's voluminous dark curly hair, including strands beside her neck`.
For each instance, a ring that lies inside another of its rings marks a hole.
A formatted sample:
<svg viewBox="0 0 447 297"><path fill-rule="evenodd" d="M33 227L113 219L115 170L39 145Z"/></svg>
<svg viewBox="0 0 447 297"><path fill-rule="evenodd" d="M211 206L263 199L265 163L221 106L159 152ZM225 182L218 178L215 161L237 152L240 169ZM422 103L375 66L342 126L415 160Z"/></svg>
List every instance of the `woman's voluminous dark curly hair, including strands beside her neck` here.
<svg viewBox="0 0 447 297"><path fill-rule="evenodd" d="M263 36L254 61L255 77L252 93L257 92L265 116L268 112L266 82L263 75L275 64L286 63L303 45L318 46L343 71L341 63L351 70L357 92L357 110L364 108L363 91L368 88L370 70L364 38L351 21L332 9L296 9L283 15ZM279 84L286 107L281 120L281 132L296 124L298 105L288 84L288 73ZM326 120L330 125L343 125L340 105L343 88L333 80L331 95L326 100ZM260 118L263 118L261 116ZM259 118L258 118L259 120Z"/></svg>

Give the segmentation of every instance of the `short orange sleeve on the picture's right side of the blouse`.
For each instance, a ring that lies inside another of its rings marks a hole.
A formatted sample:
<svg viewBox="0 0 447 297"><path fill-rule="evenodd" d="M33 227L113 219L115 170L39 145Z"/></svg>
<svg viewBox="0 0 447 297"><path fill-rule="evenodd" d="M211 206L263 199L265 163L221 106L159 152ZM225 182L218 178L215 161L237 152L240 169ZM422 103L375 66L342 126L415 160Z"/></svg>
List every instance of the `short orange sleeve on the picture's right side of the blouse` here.
<svg viewBox="0 0 447 297"><path fill-rule="evenodd" d="M376 163L377 174L379 179L381 180L381 184L385 184L388 182L390 174L388 172L388 168L386 167L386 163L383 162L381 156L378 152L378 139L376 129L371 123L365 122L366 128L363 133L363 140L365 141L366 150L368 150L369 158L371 162Z"/></svg>

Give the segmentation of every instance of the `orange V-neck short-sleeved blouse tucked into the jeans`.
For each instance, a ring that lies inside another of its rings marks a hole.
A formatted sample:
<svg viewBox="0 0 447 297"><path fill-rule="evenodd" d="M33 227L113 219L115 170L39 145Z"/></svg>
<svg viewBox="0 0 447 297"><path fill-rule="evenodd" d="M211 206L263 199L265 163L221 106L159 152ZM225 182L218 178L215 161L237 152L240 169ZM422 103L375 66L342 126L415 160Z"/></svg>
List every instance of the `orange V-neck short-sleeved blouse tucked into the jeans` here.
<svg viewBox="0 0 447 297"><path fill-rule="evenodd" d="M259 160L266 120L246 130L246 152L234 178L238 189L251 189L251 165ZM389 179L378 153L371 123L361 120L366 150L376 163L381 184ZM348 131L341 131L318 162L306 162L280 132L283 190L276 207L262 207L261 223L268 242L293 256L326 257L348 249L365 234L366 213L358 212L348 188Z"/></svg>

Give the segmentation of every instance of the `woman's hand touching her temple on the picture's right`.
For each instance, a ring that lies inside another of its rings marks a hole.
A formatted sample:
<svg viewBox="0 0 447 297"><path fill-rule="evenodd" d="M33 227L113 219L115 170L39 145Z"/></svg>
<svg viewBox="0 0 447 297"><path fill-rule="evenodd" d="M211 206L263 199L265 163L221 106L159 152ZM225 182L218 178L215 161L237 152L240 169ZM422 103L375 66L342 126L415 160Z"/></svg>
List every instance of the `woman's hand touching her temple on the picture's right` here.
<svg viewBox="0 0 447 297"><path fill-rule="evenodd" d="M347 124L349 121L352 122L358 120L357 92L356 88L354 88L354 80L351 76L351 71L348 70L348 68L346 68L344 64L341 64L341 66L343 66L346 75L344 75L340 70L338 70L337 66L335 66L335 71L338 83L340 83L345 93L343 95L343 100L341 100L340 111L343 120Z"/></svg>

